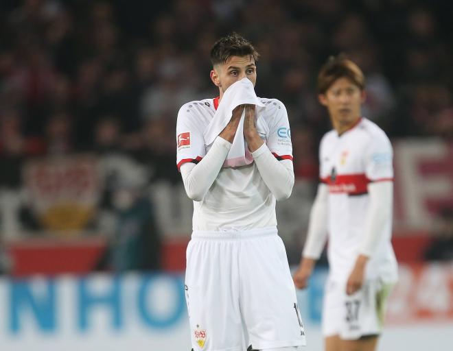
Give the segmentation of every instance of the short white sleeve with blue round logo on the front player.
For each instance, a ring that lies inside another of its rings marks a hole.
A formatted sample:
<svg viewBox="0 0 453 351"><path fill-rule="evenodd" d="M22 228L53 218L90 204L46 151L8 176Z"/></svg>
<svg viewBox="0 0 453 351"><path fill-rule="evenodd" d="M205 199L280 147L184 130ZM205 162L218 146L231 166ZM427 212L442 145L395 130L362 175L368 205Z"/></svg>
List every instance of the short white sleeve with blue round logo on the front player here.
<svg viewBox="0 0 453 351"><path fill-rule="evenodd" d="M292 143L288 113L283 103L272 99L275 118L269 125L267 145L277 160L292 160Z"/></svg>

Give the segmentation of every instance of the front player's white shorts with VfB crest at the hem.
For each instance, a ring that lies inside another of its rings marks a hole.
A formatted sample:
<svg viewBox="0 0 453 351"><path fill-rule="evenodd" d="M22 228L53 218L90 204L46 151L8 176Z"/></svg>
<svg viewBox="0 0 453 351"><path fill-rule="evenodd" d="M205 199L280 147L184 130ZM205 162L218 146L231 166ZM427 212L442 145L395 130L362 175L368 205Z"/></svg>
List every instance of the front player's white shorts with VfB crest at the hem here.
<svg viewBox="0 0 453 351"><path fill-rule="evenodd" d="M285 246L275 227L194 232L185 289L194 351L305 346Z"/></svg>

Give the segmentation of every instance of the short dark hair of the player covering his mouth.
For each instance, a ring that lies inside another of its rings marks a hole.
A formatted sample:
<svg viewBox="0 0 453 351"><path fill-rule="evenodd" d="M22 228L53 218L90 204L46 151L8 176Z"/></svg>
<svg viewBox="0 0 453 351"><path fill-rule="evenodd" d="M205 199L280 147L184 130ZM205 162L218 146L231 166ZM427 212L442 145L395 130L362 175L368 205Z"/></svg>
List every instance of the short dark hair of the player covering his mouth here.
<svg viewBox="0 0 453 351"><path fill-rule="evenodd" d="M211 63L213 66L225 63L231 56L247 56L255 61L259 58L259 53L255 47L235 32L224 36L216 41L211 49Z"/></svg>

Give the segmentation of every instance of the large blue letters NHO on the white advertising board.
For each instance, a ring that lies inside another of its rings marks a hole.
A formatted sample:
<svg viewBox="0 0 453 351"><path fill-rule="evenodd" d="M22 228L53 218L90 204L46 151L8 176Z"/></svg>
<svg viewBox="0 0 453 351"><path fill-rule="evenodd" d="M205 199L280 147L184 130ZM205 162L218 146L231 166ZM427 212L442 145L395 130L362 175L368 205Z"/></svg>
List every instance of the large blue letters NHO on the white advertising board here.
<svg viewBox="0 0 453 351"><path fill-rule="evenodd" d="M127 277L126 277L127 278ZM25 332L30 321L40 332L54 333L62 328L63 318L74 320L75 328L87 332L95 328L96 315L105 313L113 330L124 330L135 319L139 324L157 330L174 328L187 316L182 276L143 274L134 283L124 276L104 276L106 285L98 291L97 278L73 280L75 315L62 315L62 285L59 280L11 280L9 284L8 329L14 335ZM129 287L129 289L128 289ZM153 298L157 291L165 292L165 301ZM72 294L71 294L72 295ZM167 306L162 308L162 304Z"/></svg>

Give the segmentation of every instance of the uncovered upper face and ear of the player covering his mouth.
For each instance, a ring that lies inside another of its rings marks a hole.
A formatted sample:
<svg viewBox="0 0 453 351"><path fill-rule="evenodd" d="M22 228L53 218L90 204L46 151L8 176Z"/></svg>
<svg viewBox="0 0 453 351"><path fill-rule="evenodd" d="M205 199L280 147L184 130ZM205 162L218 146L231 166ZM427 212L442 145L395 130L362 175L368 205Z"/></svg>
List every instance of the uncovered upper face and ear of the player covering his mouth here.
<svg viewBox="0 0 453 351"><path fill-rule="evenodd" d="M220 99L231 84L247 77L255 86L257 67L253 56L231 56L227 62L216 64L211 71L211 80L220 89Z"/></svg>

